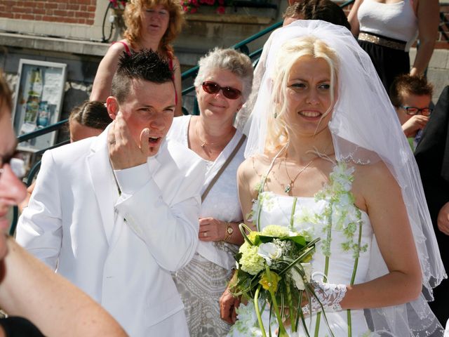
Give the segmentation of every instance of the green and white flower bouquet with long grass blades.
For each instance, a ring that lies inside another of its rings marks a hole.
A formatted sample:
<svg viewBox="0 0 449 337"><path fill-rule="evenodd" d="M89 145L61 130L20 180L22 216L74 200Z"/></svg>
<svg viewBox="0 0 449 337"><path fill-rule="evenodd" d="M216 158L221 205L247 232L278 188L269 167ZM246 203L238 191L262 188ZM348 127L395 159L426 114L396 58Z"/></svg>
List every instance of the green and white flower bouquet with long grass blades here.
<svg viewBox="0 0 449 337"><path fill-rule="evenodd" d="M230 291L234 296L254 300L262 336L267 336L261 317L266 305L269 305L270 321L274 314L279 324L278 336L288 336L284 322L290 322L293 332L301 323L308 336L302 306L306 303L303 298L307 303L311 303L311 296L316 298L310 284L309 262L319 239L311 240L279 225L269 225L256 232L242 223L240 230L245 242L236 254L237 270L229 284ZM261 308L260 303L263 303Z"/></svg>

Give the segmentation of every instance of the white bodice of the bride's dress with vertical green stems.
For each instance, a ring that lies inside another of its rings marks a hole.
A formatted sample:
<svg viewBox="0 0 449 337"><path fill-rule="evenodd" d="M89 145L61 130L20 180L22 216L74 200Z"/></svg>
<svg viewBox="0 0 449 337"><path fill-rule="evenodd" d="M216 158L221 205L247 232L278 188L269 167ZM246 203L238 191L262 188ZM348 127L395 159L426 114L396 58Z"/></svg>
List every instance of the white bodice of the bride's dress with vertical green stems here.
<svg viewBox="0 0 449 337"><path fill-rule="evenodd" d="M328 258L326 275L329 283L365 282L373 240L368 214L354 205L344 204L344 200L336 204L330 202L327 199L316 200L316 197L290 197L261 192L255 203L256 212L260 209L258 227L261 230L267 225L286 225L290 230L306 234L311 239L319 237L321 240L316 244L316 252L311 260L312 273L324 273ZM329 215L330 210L332 213ZM356 220L358 212L360 222ZM333 220L331 224L327 222L329 216ZM344 219L339 225L340 218ZM354 269L355 278L351 282Z"/></svg>

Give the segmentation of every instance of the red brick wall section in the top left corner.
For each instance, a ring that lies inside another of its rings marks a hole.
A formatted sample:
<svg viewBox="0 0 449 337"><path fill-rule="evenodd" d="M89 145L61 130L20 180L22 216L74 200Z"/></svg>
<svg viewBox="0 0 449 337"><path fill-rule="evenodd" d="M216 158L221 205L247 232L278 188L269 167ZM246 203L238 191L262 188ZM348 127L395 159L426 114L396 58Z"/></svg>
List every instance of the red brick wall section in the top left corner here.
<svg viewBox="0 0 449 337"><path fill-rule="evenodd" d="M97 0L2 0L0 18L93 25Z"/></svg>

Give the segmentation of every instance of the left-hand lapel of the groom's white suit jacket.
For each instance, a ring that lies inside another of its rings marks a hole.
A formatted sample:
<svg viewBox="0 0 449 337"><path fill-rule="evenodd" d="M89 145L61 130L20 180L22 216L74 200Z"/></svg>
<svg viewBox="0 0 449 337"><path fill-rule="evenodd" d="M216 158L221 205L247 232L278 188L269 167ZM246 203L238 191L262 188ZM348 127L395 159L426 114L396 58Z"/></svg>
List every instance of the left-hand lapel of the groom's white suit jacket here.
<svg viewBox="0 0 449 337"><path fill-rule="evenodd" d="M109 164L107 130L108 128L93 142L92 153L87 157L87 161L105 235L110 245L112 231L114 230L114 202L118 198L119 192L112 167Z"/></svg>

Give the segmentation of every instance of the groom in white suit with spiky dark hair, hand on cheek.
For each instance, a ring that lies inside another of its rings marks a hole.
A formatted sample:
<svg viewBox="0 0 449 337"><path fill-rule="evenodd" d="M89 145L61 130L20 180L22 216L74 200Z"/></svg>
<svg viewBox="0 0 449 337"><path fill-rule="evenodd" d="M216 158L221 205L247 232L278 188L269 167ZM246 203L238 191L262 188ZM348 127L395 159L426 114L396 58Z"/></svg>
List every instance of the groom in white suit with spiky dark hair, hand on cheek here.
<svg viewBox="0 0 449 337"><path fill-rule="evenodd" d="M130 336L188 336L170 272L196 250L205 168L165 139L175 110L168 63L123 53L106 105L114 121L100 136L43 155L17 241Z"/></svg>

